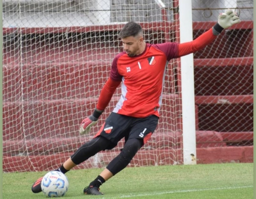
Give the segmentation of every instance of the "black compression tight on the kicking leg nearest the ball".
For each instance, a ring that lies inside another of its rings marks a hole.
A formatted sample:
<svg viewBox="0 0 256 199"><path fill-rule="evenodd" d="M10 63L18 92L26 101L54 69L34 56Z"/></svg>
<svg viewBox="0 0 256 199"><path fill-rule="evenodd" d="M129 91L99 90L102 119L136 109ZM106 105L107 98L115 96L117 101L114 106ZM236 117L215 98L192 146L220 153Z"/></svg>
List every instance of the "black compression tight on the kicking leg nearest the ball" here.
<svg viewBox="0 0 256 199"><path fill-rule="evenodd" d="M87 160L89 157L94 156L96 153L108 147L109 140L102 136L93 138L91 141L84 143L76 152L71 156L71 160L79 165Z"/></svg>

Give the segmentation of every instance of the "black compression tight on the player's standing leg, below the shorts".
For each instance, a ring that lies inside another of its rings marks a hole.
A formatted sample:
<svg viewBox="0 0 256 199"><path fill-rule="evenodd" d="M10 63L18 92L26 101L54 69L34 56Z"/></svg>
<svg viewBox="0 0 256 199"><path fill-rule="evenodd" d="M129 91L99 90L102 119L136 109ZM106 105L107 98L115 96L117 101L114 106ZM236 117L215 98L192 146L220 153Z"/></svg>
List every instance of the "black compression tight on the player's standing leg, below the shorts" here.
<svg viewBox="0 0 256 199"><path fill-rule="evenodd" d="M113 174L123 170L138 152L138 150L142 147L143 140L132 138L127 140L124 145L124 149L122 149L121 153L116 156L107 166L107 169Z"/></svg>

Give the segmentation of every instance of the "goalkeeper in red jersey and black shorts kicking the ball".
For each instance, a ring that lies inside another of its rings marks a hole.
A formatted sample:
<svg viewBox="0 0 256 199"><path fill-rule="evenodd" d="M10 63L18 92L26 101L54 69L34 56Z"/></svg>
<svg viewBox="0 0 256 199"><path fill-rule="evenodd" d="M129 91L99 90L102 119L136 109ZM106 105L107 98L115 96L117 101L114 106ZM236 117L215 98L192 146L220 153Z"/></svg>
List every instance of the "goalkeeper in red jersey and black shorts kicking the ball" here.
<svg viewBox="0 0 256 199"><path fill-rule="evenodd" d="M143 30L135 22L128 22L119 33L124 52L113 60L110 77L102 88L96 109L85 118L80 134L88 134L107 107L116 88L122 82L122 95L100 131L84 143L56 171L68 172L74 166L94 156L101 150L113 149L125 139L124 148L107 167L84 188L84 194L102 195L100 186L123 170L137 151L150 139L156 129L161 106L164 72L173 59L203 49L225 28L239 23L236 13L228 9L218 17L210 30L191 42L148 44L143 39ZM41 179L32 186L32 192L41 192Z"/></svg>

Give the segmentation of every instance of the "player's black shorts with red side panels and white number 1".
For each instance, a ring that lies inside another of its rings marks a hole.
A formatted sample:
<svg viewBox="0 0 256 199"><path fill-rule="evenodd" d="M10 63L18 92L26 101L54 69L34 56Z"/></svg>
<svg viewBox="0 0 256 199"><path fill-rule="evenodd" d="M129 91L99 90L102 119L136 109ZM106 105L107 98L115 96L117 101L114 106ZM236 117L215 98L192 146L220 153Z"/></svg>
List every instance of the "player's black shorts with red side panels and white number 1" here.
<svg viewBox="0 0 256 199"><path fill-rule="evenodd" d="M125 142L131 138L143 139L145 144L155 131L157 124L156 115L134 118L112 112L94 137L101 135L111 141L107 149L113 149L122 138L125 138Z"/></svg>

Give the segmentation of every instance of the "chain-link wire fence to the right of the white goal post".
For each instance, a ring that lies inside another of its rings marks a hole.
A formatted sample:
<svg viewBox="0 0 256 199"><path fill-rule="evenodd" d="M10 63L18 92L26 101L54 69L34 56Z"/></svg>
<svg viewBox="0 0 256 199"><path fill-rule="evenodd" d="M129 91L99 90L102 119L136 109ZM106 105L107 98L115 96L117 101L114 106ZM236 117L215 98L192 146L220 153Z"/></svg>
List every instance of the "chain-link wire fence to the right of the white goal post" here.
<svg viewBox="0 0 256 199"><path fill-rule="evenodd" d="M253 145L253 1L195 0L193 35L212 27L226 8L241 23L194 54L197 147Z"/></svg>

